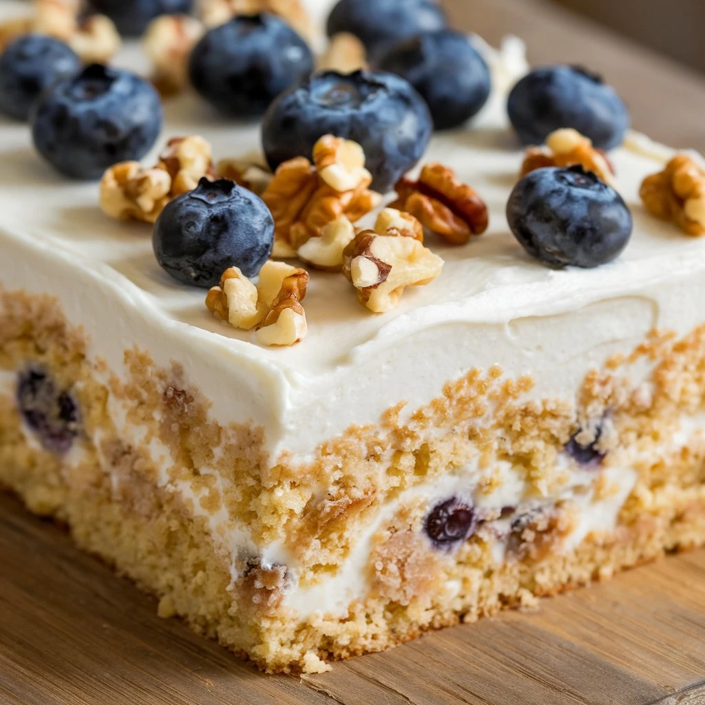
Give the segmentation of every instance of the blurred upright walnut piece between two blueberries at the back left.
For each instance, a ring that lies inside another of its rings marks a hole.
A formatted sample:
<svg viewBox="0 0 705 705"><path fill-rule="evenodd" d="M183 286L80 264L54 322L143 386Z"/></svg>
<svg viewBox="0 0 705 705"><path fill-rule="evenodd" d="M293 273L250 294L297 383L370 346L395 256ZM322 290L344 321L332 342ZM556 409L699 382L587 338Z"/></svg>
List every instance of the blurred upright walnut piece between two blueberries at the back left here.
<svg viewBox="0 0 705 705"><path fill-rule="evenodd" d="M204 26L188 15L161 15L147 27L143 43L154 65L152 82L162 95L173 95L188 85L188 57Z"/></svg>

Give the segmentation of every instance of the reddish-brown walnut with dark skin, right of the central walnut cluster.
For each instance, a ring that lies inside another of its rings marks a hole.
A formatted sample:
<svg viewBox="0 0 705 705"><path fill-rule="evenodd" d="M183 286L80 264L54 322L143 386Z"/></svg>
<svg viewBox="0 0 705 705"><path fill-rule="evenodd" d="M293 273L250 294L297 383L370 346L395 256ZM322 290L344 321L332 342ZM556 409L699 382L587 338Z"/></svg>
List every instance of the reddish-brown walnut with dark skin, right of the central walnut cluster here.
<svg viewBox="0 0 705 705"><path fill-rule="evenodd" d="M424 228L452 245L465 245L472 235L482 235L489 224L482 198L443 164L424 166L417 181L403 178L396 192L399 198L392 208L412 214Z"/></svg>

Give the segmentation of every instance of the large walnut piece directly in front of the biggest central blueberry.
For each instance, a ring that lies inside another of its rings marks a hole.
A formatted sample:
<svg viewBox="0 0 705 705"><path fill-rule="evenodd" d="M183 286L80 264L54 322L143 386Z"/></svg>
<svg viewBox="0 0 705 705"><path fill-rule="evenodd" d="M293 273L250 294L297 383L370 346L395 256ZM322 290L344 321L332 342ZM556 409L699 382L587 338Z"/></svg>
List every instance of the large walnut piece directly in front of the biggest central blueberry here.
<svg viewBox="0 0 705 705"><path fill-rule="evenodd" d="M341 216L355 223L381 200L370 190L362 147L333 135L314 146L314 164L305 157L285 161L262 193L275 226L275 258L295 257L311 238Z"/></svg>

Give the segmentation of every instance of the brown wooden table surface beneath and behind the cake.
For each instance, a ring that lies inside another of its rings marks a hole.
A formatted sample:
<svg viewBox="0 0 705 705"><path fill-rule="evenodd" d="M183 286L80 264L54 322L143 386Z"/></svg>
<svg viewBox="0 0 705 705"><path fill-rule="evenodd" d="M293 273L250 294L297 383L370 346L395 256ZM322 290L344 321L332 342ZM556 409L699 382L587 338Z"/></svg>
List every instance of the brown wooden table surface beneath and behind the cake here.
<svg viewBox="0 0 705 705"><path fill-rule="evenodd" d="M618 1L618 0L615 0ZM705 151L705 80L532 0L450 0L458 26L602 71L635 126ZM705 551L428 635L330 673L266 677L0 496L2 705L705 704Z"/></svg>

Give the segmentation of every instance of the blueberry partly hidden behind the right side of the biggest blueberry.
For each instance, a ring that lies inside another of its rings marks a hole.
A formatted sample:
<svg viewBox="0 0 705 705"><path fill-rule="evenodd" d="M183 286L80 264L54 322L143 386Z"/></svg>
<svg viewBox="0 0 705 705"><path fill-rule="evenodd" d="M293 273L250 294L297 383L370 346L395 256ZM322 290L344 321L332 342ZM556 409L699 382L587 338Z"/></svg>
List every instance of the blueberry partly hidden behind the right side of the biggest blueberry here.
<svg viewBox="0 0 705 705"><path fill-rule="evenodd" d="M436 130L460 127L479 113L491 91L489 68L467 35L453 30L405 39L376 64L415 87Z"/></svg>

